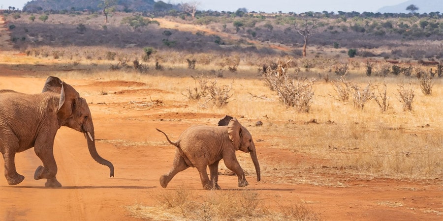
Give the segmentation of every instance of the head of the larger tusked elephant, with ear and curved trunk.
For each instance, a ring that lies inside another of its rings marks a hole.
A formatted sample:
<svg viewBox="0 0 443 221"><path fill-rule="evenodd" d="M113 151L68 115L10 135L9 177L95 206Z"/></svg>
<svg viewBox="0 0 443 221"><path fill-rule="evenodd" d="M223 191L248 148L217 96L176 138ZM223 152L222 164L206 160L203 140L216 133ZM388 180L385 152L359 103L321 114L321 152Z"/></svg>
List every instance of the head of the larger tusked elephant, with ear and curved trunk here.
<svg viewBox="0 0 443 221"><path fill-rule="evenodd" d="M89 153L93 159L99 164L108 166L111 170L109 176L113 177L114 166L111 162L100 157L95 148L94 123L86 100L80 97L79 93L71 85L64 83L56 77L49 77L46 80L42 93L47 91L60 94L57 110L59 127L66 126L82 132L88 141Z"/></svg>

